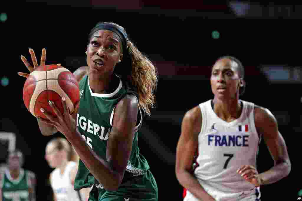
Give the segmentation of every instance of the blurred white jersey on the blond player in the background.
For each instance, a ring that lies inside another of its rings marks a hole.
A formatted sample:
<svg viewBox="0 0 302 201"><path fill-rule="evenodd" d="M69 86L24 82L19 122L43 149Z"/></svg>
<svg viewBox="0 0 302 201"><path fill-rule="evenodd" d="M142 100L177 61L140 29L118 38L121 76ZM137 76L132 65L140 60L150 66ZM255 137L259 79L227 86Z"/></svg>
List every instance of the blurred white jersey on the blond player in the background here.
<svg viewBox="0 0 302 201"><path fill-rule="evenodd" d="M52 172L50 183L57 201L81 201L78 191L73 189L70 181L70 171L76 165L76 162L69 161L63 174L59 168Z"/></svg>

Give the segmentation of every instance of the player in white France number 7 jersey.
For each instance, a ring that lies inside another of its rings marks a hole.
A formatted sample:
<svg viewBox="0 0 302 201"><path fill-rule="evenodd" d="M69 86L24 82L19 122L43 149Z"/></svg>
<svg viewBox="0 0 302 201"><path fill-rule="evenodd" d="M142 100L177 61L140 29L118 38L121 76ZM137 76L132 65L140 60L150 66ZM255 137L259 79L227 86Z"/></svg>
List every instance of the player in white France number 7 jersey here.
<svg viewBox="0 0 302 201"><path fill-rule="evenodd" d="M291 170L276 119L268 109L239 99L245 81L238 59L219 58L210 82L214 99L192 108L182 120L175 171L187 189L184 200L260 200L261 185L277 182ZM259 174L256 157L261 138L275 165Z"/></svg>

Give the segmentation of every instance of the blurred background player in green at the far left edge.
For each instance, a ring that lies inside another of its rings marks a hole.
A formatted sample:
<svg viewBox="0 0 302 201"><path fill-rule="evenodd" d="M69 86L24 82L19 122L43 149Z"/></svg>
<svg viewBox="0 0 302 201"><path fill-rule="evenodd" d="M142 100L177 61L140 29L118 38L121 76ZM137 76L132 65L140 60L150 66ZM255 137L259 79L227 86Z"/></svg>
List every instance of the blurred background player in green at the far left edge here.
<svg viewBox="0 0 302 201"><path fill-rule="evenodd" d="M9 152L7 168L0 174L0 201L35 201L36 177L31 171L24 170L23 154L15 149Z"/></svg>

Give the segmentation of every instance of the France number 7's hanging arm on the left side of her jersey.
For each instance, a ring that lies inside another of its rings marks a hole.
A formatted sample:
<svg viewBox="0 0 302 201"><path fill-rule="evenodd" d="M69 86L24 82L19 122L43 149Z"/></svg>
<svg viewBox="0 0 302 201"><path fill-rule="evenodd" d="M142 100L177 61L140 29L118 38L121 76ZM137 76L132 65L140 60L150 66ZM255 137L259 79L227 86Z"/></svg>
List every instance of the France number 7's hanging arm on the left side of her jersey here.
<svg viewBox="0 0 302 201"><path fill-rule="evenodd" d="M197 106L189 110L182 120L181 135L176 148L175 172L179 183L200 200L214 200L198 180L191 174L194 153L198 148L198 134L201 131L201 110Z"/></svg>

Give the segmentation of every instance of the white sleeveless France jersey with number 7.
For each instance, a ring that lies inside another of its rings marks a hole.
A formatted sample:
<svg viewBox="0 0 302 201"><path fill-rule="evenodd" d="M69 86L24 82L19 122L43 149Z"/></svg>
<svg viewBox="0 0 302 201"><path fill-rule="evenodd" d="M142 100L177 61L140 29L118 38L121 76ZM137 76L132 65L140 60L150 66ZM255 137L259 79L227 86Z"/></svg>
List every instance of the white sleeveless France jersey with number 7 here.
<svg viewBox="0 0 302 201"><path fill-rule="evenodd" d="M219 118L211 100L199 104L202 114L198 135L198 166L194 175L217 201L259 200L260 188L247 182L236 171L242 165L256 167L260 138L255 128L254 104L242 101L240 117L226 122ZM187 192L185 200L197 200Z"/></svg>

